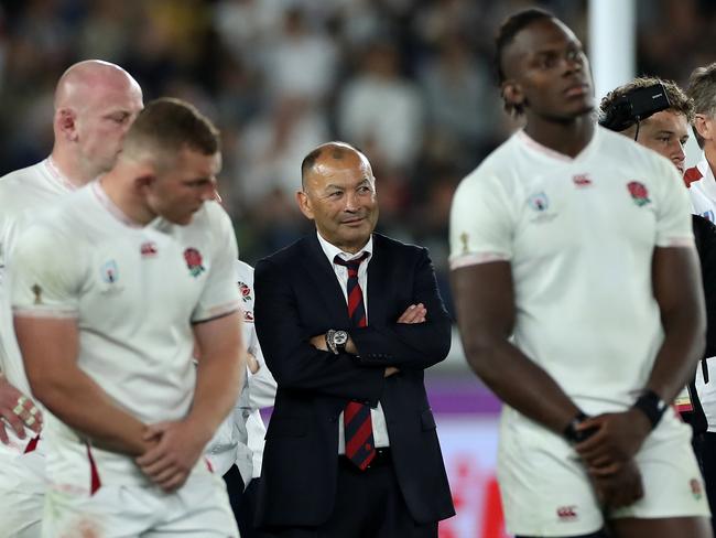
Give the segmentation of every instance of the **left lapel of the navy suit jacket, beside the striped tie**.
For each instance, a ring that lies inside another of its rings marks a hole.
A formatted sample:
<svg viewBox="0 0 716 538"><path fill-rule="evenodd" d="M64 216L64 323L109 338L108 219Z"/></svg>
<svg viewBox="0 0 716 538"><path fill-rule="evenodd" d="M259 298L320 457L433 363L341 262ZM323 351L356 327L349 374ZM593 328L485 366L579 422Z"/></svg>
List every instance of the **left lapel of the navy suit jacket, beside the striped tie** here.
<svg viewBox="0 0 716 538"><path fill-rule="evenodd" d="M318 299L324 303L327 318L336 321L336 326L349 326L348 306L343 290L336 278L328 258L326 258L315 234L306 237L306 256L301 262L312 279L313 289L317 290ZM339 323L338 323L339 322Z"/></svg>

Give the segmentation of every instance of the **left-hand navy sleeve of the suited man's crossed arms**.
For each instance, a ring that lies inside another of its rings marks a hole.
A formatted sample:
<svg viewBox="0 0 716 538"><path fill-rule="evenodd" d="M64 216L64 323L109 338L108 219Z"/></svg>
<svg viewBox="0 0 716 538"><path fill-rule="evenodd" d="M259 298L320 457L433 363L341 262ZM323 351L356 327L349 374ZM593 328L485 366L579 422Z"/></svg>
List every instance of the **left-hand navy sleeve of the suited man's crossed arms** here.
<svg viewBox="0 0 716 538"><path fill-rule="evenodd" d="M271 260L261 260L256 267L256 329L279 388L377 404L383 390L383 370L311 345L315 335L302 326L301 305L289 280L286 270Z"/></svg>

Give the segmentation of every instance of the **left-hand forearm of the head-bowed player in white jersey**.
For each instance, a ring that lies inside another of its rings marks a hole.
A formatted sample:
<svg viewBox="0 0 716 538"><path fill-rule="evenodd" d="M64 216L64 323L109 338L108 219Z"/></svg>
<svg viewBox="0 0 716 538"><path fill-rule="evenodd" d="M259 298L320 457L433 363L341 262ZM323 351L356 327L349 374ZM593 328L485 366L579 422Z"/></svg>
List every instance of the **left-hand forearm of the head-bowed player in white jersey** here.
<svg viewBox="0 0 716 538"><path fill-rule="evenodd" d="M96 446L128 455L144 453L145 426L113 405L84 372L65 372L48 379L31 379L33 391L50 411Z"/></svg>

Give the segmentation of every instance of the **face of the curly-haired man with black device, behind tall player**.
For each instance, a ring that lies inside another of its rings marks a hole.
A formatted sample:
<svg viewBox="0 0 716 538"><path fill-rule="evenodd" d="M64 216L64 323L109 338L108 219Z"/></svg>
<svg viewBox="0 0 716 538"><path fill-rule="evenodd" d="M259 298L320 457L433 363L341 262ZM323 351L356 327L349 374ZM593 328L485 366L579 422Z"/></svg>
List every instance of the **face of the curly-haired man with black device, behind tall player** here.
<svg viewBox="0 0 716 538"><path fill-rule="evenodd" d="M669 159L683 174L686 140L688 140L686 116L674 110L662 110L641 122L637 142Z"/></svg>

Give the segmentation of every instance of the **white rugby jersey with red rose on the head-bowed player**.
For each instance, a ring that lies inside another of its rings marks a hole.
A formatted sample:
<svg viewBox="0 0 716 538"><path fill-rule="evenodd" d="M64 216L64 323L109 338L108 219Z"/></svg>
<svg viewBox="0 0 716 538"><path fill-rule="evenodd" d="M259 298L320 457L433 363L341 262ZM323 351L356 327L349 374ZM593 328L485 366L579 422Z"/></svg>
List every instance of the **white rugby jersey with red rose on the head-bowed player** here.
<svg viewBox="0 0 716 538"><path fill-rule="evenodd" d="M230 219L217 203L205 203L187 226L158 218L141 227L95 182L17 241L13 312L77 320L77 364L119 407L144 423L181 420L196 378L192 323L239 308L236 258ZM53 469L87 450L52 417L44 439L51 480ZM93 452L105 482L144 483L131 458Z"/></svg>

